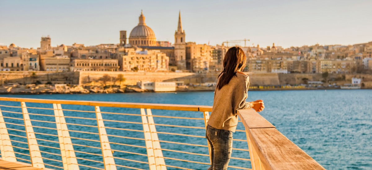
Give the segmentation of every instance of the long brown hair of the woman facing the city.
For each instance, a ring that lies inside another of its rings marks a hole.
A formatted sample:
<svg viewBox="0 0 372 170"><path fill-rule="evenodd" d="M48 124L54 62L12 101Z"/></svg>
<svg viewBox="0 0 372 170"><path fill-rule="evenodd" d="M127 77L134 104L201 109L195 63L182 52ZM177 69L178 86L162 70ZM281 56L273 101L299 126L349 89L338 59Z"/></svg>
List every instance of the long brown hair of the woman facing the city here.
<svg viewBox="0 0 372 170"><path fill-rule="evenodd" d="M218 76L217 88L221 89L224 85L227 85L238 71L243 71L244 67L246 67L246 54L244 51L238 46L227 50L224 58L224 70Z"/></svg>

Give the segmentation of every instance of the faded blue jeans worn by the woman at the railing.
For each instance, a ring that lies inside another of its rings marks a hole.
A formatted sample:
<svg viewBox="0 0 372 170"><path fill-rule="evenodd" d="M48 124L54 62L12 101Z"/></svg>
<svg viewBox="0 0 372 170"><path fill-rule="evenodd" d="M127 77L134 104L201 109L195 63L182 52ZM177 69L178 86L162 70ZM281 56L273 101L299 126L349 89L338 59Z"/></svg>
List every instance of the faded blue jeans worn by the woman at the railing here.
<svg viewBox="0 0 372 170"><path fill-rule="evenodd" d="M227 170L232 152L232 131L208 125L205 136L211 146L212 165L208 170Z"/></svg>

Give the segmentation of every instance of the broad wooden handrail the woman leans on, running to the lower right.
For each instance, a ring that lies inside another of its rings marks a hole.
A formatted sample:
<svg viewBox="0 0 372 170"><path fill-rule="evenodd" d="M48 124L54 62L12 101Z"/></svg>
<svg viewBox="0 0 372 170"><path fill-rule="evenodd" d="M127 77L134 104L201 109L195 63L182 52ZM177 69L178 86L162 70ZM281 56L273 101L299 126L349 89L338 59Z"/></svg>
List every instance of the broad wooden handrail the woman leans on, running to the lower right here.
<svg viewBox="0 0 372 170"><path fill-rule="evenodd" d="M238 115L246 128L249 149L254 150L251 160L256 169L325 170L253 109L238 110Z"/></svg>

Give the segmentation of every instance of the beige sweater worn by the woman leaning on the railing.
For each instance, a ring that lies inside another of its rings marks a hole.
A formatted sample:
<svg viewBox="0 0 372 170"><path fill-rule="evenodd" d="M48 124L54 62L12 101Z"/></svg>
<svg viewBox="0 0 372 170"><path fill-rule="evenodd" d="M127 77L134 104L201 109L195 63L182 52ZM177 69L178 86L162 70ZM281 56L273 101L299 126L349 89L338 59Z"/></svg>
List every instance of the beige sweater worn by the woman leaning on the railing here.
<svg viewBox="0 0 372 170"><path fill-rule="evenodd" d="M251 104L246 102L248 86L249 77L243 73L236 73L227 85L221 89L216 88L208 125L235 132L238 125L237 110L252 108Z"/></svg>

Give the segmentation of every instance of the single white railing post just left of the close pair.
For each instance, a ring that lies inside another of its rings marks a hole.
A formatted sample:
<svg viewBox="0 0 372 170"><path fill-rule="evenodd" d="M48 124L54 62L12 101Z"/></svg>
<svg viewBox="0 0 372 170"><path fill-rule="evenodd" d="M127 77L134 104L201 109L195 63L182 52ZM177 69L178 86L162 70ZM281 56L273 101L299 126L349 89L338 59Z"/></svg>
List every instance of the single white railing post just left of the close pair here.
<svg viewBox="0 0 372 170"><path fill-rule="evenodd" d="M99 140L101 142L101 150L103 163L105 164L105 170L116 170L115 160L112 156L112 150L110 147L109 138L107 137L105 124L103 123L101 110L99 106L95 106L94 108L96 109Z"/></svg>

